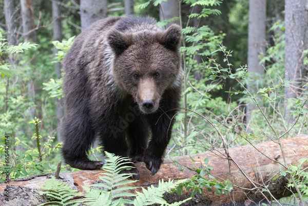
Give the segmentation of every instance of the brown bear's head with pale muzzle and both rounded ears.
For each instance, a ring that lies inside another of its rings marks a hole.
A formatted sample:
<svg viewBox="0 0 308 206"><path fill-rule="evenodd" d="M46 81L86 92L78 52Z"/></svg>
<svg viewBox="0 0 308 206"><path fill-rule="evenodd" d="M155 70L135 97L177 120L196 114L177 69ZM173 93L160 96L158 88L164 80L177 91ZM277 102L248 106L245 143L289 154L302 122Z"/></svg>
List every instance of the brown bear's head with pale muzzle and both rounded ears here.
<svg viewBox="0 0 308 206"><path fill-rule="evenodd" d="M154 113L166 89L181 86L179 46L181 28L108 33L114 52L112 75L119 88L139 105L144 114Z"/></svg>

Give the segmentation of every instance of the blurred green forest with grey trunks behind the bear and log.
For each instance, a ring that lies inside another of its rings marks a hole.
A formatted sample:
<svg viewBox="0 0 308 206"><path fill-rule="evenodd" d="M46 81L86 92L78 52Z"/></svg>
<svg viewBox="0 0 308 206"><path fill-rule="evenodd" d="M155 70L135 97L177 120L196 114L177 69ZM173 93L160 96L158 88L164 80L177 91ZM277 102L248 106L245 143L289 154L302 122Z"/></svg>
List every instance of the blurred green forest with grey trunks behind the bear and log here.
<svg viewBox="0 0 308 206"><path fill-rule="evenodd" d="M11 178L52 172L62 159L61 60L73 36L107 16L183 28L182 109L167 156L307 134L307 8L304 0L0 0L0 135L10 141Z"/></svg>

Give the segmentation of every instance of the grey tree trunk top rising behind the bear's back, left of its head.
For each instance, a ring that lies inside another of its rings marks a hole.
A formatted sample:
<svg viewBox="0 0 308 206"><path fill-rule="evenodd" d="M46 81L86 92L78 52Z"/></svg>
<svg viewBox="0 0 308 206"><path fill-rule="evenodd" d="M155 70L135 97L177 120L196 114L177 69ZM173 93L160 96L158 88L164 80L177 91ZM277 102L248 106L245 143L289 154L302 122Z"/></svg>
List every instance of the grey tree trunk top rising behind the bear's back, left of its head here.
<svg viewBox="0 0 308 206"><path fill-rule="evenodd" d="M80 0L81 30L107 16L107 0Z"/></svg>

